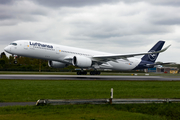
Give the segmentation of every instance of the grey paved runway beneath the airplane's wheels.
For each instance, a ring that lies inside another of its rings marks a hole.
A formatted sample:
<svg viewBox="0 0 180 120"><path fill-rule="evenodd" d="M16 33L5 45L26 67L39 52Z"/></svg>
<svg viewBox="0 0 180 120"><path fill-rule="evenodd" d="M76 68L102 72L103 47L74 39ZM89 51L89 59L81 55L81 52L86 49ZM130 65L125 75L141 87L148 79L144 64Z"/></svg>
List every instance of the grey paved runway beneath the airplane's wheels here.
<svg viewBox="0 0 180 120"><path fill-rule="evenodd" d="M180 77L163 76L94 76L94 75L0 75L0 79L11 80L155 80L180 81Z"/></svg>

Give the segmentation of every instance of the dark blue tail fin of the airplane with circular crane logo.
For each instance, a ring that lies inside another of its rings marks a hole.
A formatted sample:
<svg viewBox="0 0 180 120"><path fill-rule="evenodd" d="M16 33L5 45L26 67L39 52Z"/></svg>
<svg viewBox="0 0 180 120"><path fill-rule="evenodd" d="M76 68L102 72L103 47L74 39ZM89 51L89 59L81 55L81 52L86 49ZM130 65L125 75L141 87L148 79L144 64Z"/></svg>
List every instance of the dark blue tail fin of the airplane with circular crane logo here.
<svg viewBox="0 0 180 120"><path fill-rule="evenodd" d="M159 41L157 42L148 52L155 52L155 51L159 51L162 49L163 45L164 45L165 41ZM157 57L158 57L159 53L156 54L148 54L148 55L144 55L141 59L145 60L145 61L149 61L149 62L155 62Z"/></svg>

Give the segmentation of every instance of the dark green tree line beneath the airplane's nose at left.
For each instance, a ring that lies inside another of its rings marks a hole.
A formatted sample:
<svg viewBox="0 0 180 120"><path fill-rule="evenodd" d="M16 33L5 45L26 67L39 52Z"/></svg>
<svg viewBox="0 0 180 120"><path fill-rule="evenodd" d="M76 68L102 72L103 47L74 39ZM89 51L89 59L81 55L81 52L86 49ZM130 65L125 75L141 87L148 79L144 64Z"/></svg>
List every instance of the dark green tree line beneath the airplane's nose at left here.
<svg viewBox="0 0 180 120"><path fill-rule="evenodd" d="M4 52L0 56L0 71L43 71L43 72L69 72L74 66L66 68L51 68L47 60L35 59L22 56L7 57Z"/></svg>

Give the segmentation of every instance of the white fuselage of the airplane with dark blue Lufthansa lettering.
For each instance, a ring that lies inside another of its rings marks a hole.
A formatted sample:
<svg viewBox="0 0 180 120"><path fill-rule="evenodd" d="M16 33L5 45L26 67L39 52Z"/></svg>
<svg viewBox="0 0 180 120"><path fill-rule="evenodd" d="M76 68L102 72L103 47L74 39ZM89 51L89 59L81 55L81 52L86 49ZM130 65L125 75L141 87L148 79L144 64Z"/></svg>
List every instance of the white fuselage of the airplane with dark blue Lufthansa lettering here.
<svg viewBox="0 0 180 120"><path fill-rule="evenodd" d="M5 51L19 56L32 57L38 59L46 59L51 61L58 61L62 63L72 64L68 58L73 56L84 56L92 59L95 55L109 55L110 53L98 52L94 50L86 50L63 45L56 45L51 43L44 43L31 40L18 40L5 48ZM114 69L114 70L132 70L139 63L141 59L134 57L127 59L117 59L116 61L104 62L96 66L100 69Z"/></svg>

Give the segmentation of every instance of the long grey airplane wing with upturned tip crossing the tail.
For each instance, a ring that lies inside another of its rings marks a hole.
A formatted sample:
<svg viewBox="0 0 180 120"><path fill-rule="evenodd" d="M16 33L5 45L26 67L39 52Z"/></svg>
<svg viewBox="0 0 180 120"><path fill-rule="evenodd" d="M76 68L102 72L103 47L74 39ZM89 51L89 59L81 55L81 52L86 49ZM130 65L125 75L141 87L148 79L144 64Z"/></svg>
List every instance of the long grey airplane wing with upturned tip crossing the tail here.
<svg viewBox="0 0 180 120"><path fill-rule="evenodd" d="M110 55L94 55L92 57L93 61L95 62L107 62L107 61L114 61L116 62L117 59L125 59L128 60L127 58L129 57L134 57L134 56L139 56L139 55L147 55L147 54L155 54L155 53L161 53L166 51L171 45L165 47L162 50L159 51L155 51L155 52L146 52L146 53L134 53L134 54L124 54L124 55L120 55L120 54L110 54Z"/></svg>

